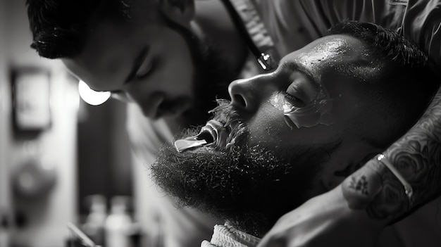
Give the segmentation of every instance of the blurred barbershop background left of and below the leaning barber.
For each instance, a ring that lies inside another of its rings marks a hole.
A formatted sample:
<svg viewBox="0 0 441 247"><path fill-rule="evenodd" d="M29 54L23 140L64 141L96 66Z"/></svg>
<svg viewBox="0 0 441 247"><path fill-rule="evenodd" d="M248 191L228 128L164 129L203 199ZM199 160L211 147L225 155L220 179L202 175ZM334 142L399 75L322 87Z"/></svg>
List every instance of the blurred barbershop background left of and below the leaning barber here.
<svg viewBox="0 0 441 247"><path fill-rule="evenodd" d="M70 246L67 222L97 243L125 231L136 246L144 175L132 169L125 106L85 103L61 61L30 49L25 11L25 0L0 0L0 247Z"/></svg>

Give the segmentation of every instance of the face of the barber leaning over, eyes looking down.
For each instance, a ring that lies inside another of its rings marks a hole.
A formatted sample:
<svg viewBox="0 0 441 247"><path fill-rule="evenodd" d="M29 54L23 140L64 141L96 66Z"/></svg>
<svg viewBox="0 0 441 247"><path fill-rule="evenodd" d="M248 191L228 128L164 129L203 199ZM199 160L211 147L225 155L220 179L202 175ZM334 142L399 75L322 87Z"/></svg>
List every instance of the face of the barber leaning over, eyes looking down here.
<svg viewBox="0 0 441 247"><path fill-rule="evenodd" d="M159 10L144 11L153 7L135 4L128 23L100 21L80 56L64 58L63 63L91 89L112 91L117 99L135 102L149 118L181 115L200 98L198 90L203 91L195 88L200 85L194 81L204 79L193 56L207 54L190 47L195 40L190 32L182 32L190 30L189 23L170 28ZM204 62L208 68L217 65L213 59Z"/></svg>

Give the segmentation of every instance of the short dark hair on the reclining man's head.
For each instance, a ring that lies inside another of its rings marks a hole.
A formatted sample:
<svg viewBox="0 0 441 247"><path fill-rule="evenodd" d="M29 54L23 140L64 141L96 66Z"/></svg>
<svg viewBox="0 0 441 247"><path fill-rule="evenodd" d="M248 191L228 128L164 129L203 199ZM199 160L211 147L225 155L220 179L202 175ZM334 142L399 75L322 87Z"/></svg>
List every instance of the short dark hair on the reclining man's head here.
<svg viewBox="0 0 441 247"><path fill-rule="evenodd" d="M366 53L387 63L383 77L366 80L366 96L372 108L387 116L386 121L371 119L366 139L381 138L386 132L383 137L391 138L383 143L391 144L416 123L433 99L441 82L435 63L413 42L373 23L344 21L331 27L329 33L359 39L366 45Z"/></svg>

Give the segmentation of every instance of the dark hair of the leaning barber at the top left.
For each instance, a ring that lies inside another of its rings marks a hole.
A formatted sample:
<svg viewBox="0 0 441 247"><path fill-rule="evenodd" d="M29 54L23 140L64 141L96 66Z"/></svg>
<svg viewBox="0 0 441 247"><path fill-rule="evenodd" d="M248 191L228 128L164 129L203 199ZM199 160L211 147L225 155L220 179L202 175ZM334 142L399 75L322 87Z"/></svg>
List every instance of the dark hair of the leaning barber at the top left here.
<svg viewBox="0 0 441 247"><path fill-rule="evenodd" d="M44 58L72 58L85 46L93 21L130 19L129 0L27 0L32 49Z"/></svg>

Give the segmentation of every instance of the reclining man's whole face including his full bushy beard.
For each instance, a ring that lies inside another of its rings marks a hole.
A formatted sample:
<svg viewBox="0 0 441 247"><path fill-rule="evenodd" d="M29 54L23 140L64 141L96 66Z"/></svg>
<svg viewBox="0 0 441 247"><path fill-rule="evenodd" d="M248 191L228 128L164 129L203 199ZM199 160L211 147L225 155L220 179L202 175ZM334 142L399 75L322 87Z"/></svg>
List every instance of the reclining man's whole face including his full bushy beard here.
<svg viewBox="0 0 441 247"><path fill-rule="evenodd" d="M161 153L156 182L184 205L261 234L323 192L316 179L323 165L363 136L372 112L367 80L383 68L364 48L345 35L323 37L282 58L275 72L232 82L231 103L221 103L197 137L178 141L182 152ZM201 140L208 144L186 149Z"/></svg>

